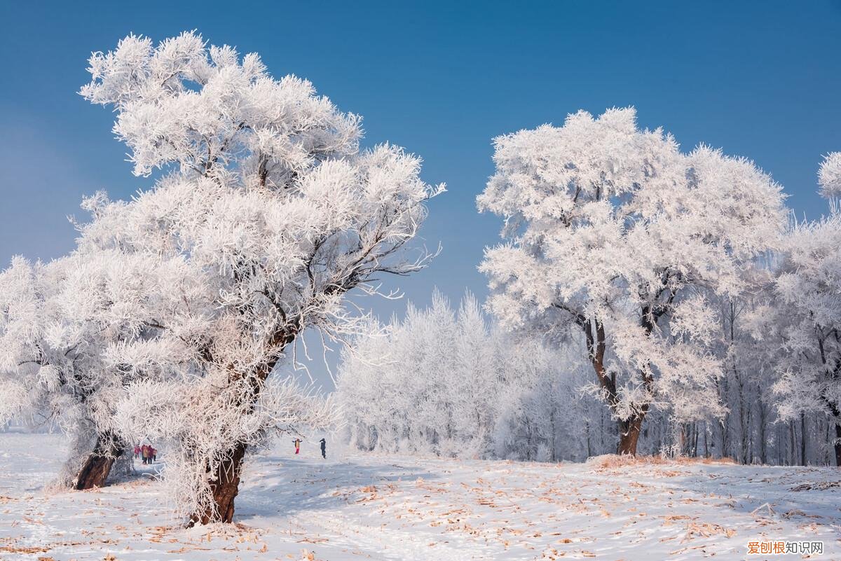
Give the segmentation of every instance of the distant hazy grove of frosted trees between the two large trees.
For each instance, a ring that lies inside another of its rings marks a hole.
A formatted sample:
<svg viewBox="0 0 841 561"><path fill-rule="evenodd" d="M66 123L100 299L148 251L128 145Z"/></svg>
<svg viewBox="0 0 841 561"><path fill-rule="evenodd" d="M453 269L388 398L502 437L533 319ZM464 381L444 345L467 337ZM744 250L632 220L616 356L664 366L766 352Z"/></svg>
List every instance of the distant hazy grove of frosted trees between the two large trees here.
<svg viewBox="0 0 841 561"><path fill-rule="evenodd" d="M338 405L353 446L461 458L585 459L584 364L492 328L466 295L372 326L344 353ZM595 408L598 412L598 408Z"/></svg>

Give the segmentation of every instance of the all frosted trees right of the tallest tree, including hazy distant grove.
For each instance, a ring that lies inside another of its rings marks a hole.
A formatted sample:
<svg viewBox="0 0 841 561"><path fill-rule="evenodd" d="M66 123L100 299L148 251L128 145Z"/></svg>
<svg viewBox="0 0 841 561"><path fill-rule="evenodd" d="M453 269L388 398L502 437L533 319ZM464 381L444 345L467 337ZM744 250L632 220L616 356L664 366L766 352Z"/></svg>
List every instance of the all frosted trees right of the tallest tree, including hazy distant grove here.
<svg viewBox="0 0 841 561"><path fill-rule="evenodd" d="M357 446L841 464L841 154L819 172L828 217L795 223L753 162L684 153L633 109L495 147L493 334L472 300L454 320L436 297L357 343L339 380Z"/></svg>

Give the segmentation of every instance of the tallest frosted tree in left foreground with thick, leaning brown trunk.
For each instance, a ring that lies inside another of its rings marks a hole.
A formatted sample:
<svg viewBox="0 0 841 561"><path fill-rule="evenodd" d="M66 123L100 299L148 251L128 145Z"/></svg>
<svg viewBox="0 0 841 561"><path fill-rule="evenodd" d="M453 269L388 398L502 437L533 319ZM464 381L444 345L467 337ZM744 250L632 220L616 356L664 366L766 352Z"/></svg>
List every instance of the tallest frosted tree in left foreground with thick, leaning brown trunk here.
<svg viewBox="0 0 841 561"><path fill-rule="evenodd" d="M308 81L274 80L257 55L198 34L159 45L129 36L94 53L89 71L82 95L114 108L135 174L165 173L131 202L99 200L77 251L184 268L159 316L132 311L150 318L150 333L110 352L119 364L147 353L161 362L116 402L119 432L171 438L180 511L230 522L248 448L330 418L329 404L272 371L308 328L326 338L357 330L346 292L375 292L373 275L426 264L426 251L405 246L443 187L421 181L421 160L402 149L360 150L360 118Z"/></svg>

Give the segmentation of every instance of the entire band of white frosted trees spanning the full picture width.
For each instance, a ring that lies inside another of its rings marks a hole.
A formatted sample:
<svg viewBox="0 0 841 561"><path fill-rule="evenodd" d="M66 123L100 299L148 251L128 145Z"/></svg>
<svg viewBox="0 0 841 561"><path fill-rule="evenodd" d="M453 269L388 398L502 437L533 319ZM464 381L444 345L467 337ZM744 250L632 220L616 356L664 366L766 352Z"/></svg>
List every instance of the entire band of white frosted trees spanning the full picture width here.
<svg viewBox="0 0 841 561"><path fill-rule="evenodd" d="M363 448L548 460L679 430L697 449L703 427L720 454L794 462L839 430L841 218L790 226L747 160L681 152L632 109L501 137L479 197L505 221L480 265L492 327L469 297L378 327L347 296L431 260L413 239L444 187L419 158L362 149L357 115L195 33L89 62L82 96L151 186L87 198L70 254L0 275L0 425L63 427L77 490L166 442L174 510L231 522L248 454L342 423ZM841 156L821 184L841 191ZM283 374L304 333L350 343L337 396Z"/></svg>

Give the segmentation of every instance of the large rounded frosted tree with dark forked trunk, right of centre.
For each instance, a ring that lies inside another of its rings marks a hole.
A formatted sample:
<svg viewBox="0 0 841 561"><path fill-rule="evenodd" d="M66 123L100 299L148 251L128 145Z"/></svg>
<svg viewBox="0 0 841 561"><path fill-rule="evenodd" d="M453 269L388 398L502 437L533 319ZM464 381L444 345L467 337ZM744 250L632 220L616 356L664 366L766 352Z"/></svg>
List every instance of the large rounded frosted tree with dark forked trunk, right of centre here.
<svg viewBox="0 0 841 561"><path fill-rule="evenodd" d="M584 338L600 396L636 454L653 406L675 418L721 414L713 296L778 244L780 187L748 161L680 152L632 108L579 112L495 140L479 209L505 218L487 249L488 309L508 328Z"/></svg>

